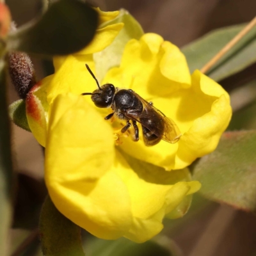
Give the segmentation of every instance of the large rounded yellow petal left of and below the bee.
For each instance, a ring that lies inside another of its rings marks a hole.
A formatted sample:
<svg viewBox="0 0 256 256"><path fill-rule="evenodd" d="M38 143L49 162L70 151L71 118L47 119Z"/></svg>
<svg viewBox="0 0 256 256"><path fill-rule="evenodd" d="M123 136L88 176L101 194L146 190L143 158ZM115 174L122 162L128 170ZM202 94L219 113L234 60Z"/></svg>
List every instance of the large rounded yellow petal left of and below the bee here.
<svg viewBox="0 0 256 256"><path fill-rule="evenodd" d="M45 182L59 211L95 236L122 236L131 207L122 180L109 171L113 133L83 97L54 100L45 149Z"/></svg>

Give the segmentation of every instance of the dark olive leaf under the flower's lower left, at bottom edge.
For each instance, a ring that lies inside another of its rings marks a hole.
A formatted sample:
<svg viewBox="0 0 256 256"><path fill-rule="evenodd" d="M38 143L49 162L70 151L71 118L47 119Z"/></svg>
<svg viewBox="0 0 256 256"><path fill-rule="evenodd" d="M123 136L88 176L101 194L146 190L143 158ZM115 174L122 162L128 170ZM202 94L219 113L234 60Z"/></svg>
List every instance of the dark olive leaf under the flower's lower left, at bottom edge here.
<svg viewBox="0 0 256 256"><path fill-rule="evenodd" d="M63 216L47 196L39 222L44 256L84 256L81 228Z"/></svg>

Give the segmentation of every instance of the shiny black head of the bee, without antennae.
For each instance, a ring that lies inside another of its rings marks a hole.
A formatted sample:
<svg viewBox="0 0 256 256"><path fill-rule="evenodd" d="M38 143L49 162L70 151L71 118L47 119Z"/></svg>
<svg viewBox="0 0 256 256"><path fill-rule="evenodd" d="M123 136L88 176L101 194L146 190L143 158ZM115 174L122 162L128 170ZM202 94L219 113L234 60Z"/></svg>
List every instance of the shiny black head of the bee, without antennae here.
<svg viewBox="0 0 256 256"><path fill-rule="evenodd" d="M111 106L115 91L113 84L103 84L92 93L92 101L98 108L108 108Z"/></svg>

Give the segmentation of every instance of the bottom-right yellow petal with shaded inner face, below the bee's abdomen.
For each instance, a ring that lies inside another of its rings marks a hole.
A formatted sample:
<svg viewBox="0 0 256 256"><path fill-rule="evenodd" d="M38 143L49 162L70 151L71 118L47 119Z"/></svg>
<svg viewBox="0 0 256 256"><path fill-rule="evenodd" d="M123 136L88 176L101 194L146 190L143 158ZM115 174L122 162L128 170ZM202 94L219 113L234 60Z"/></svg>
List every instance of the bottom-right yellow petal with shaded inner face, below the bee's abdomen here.
<svg viewBox="0 0 256 256"><path fill-rule="evenodd" d="M131 198L132 225L125 237L143 243L156 236L163 228L165 214L173 211L186 195L200 188L190 180L188 169L164 172L163 168L138 161L124 154L129 165L115 172L127 186ZM122 161L122 156L117 154Z"/></svg>

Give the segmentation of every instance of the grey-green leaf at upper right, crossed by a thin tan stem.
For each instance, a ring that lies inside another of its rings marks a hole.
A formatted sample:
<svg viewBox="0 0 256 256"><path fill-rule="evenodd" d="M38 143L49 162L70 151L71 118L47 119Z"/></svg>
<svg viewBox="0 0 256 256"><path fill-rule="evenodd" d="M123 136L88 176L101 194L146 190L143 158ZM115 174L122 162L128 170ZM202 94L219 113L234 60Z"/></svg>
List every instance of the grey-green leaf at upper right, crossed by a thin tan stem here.
<svg viewBox="0 0 256 256"><path fill-rule="evenodd" d="M211 60L234 36L244 24L216 29L202 38L186 45L182 52L185 54L189 69L193 72L200 69ZM245 35L230 51L221 58L207 75L215 81L236 74L256 61L256 28Z"/></svg>

